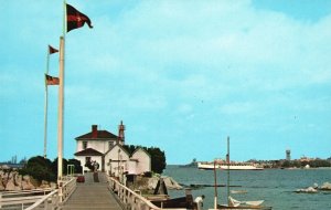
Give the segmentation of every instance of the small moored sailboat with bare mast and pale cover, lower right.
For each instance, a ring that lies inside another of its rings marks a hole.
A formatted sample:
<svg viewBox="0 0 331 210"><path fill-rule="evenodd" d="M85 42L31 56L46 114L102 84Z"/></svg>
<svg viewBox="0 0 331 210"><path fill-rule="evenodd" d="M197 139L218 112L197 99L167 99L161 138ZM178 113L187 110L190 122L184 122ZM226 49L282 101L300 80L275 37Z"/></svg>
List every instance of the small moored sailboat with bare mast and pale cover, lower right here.
<svg viewBox="0 0 331 210"><path fill-rule="evenodd" d="M227 204L217 204L216 203L216 190L215 190L215 209L261 209L261 210L270 210L271 207L261 206L264 200L255 200L255 201L239 201L229 196L229 137L227 137L227 155L226 155L226 162L227 162ZM215 166L215 165L214 165ZM214 167L214 171L216 171L216 167ZM216 172L214 172L216 176ZM216 181L216 178L215 178ZM215 183L216 186L216 183Z"/></svg>

